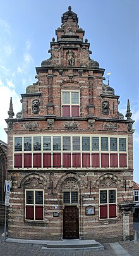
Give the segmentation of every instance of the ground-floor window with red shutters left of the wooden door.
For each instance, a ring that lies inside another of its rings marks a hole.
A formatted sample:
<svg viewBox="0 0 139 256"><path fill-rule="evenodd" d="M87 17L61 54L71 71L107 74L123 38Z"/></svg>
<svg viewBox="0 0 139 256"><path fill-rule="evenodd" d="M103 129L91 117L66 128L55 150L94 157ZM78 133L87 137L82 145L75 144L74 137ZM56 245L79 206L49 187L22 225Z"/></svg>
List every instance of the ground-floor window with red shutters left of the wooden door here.
<svg viewBox="0 0 139 256"><path fill-rule="evenodd" d="M44 220L43 190L25 190L25 219L28 221Z"/></svg>

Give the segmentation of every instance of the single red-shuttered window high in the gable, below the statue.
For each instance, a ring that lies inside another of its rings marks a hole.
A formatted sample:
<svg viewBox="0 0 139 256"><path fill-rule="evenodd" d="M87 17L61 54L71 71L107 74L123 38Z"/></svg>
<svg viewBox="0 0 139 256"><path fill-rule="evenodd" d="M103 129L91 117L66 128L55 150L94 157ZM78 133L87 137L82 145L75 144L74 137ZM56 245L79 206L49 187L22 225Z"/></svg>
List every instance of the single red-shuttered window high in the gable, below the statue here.
<svg viewBox="0 0 139 256"><path fill-rule="evenodd" d="M62 116L80 116L79 92L62 92Z"/></svg>

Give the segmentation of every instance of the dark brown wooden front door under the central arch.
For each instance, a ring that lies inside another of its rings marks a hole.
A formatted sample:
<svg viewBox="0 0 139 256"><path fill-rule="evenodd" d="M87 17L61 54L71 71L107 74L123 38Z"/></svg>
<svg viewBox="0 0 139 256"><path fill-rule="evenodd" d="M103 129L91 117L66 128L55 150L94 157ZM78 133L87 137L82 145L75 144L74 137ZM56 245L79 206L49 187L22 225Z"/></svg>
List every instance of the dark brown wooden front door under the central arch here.
<svg viewBox="0 0 139 256"><path fill-rule="evenodd" d="M65 206L63 209L63 238L79 238L79 219L76 206Z"/></svg>

